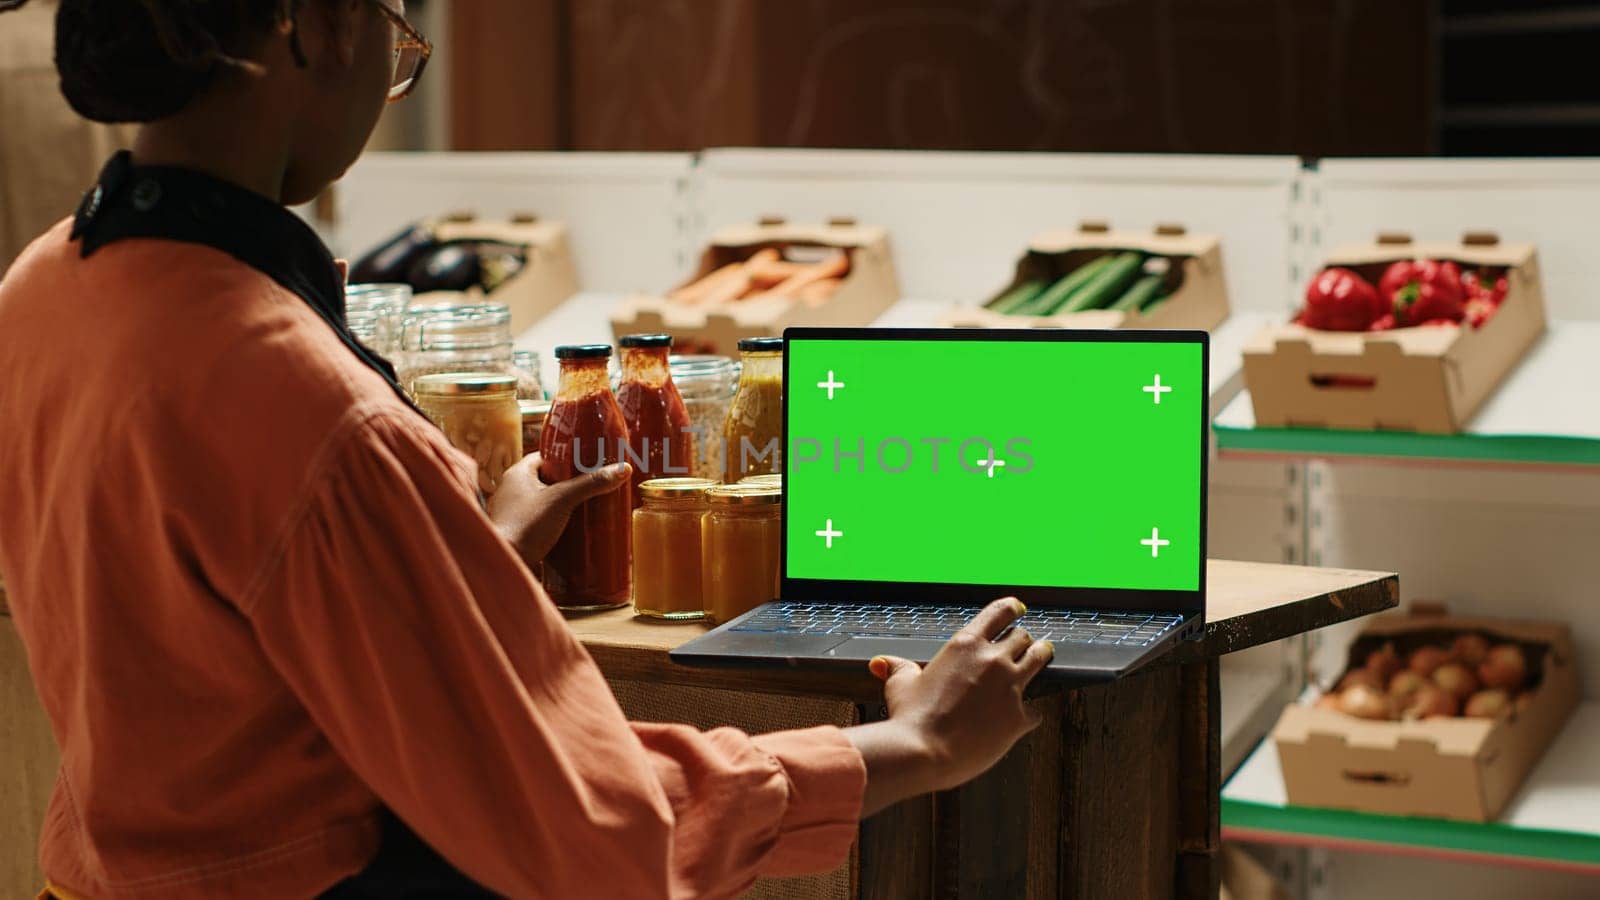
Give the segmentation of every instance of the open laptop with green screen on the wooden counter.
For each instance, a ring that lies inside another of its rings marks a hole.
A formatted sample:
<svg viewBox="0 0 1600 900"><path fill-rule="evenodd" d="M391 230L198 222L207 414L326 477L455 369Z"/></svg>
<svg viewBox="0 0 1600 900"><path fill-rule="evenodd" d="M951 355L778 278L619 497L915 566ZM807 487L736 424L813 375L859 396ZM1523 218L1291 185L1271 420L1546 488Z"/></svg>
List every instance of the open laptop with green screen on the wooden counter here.
<svg viewBox="0 0 1600 900"><path fill-rule="evenodd" d="M779 596L686 665L926 663L997 597L1117 679L1205 628L1205 331L789 328Z"/></svg>

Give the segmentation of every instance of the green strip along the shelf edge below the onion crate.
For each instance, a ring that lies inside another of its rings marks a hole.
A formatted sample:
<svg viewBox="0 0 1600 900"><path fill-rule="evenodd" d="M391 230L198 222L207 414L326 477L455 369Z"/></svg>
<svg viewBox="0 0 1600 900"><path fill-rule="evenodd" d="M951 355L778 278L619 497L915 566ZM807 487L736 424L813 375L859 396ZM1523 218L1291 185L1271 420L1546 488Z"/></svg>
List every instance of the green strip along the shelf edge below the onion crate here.
<svg viewBox="0 0 1600 900"><path fill-rule="evenodd" d="M1517 828L1499 822L1374 815L1222 798L1222 826L1600 866L1600 834Z"/></svg>

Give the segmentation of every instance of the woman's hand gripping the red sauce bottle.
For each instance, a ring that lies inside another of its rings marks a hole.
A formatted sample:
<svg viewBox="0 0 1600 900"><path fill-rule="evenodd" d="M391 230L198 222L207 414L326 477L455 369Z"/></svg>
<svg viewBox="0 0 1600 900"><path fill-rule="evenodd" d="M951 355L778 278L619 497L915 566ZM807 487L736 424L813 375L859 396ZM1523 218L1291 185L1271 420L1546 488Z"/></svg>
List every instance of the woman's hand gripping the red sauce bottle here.
<svg viewBox="0 0 1600 900"><path fill-rule="evenodd" d="M533 565L560 540L573 509L586 500L626 488L632 472L627 463L618 463L563 482L544 484L539 480L539 455L531 453L506 469L499 488L490 495L490 519L522 552L523 562Z"/></svg>

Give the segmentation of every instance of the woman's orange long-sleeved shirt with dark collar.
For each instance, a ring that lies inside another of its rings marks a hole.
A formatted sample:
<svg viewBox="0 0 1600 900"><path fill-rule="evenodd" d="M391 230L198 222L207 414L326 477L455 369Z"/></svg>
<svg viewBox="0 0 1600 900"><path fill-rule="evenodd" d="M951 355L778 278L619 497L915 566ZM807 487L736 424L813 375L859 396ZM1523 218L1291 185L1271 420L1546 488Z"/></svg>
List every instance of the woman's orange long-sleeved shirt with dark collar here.
<svg viewBox="0 0 1600 900"><path fill-rule="evenodd" d="M131 171L90 239L106 208L192 215L235 255L83 258L62 223L0 285L0 572L62 751L51 881L309 897L386 809L510 897L726 897L845 858L866 770L837 729L624 721L470 460L306 301L310 231Z"/></svg>

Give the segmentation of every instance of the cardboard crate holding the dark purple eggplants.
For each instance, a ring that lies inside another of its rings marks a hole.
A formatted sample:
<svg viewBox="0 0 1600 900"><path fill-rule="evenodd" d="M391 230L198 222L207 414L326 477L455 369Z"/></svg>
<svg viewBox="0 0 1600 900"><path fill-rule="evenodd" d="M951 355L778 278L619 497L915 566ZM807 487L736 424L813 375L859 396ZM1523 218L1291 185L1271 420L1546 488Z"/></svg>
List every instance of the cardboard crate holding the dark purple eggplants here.
<svg viewBox="0 0 1600 900"><path fill-rule="evenodd" d="M462 303L504 303L510 307L514 335L533 327L578 293L566 226L518 213L506 221L478 219L474 213L453 213L429 223L440 240L501 240L528 248L528 263L494 291L429 291L411 299L413 306L459 306Z"/></svg>

